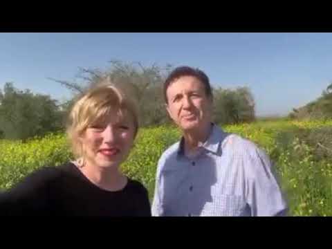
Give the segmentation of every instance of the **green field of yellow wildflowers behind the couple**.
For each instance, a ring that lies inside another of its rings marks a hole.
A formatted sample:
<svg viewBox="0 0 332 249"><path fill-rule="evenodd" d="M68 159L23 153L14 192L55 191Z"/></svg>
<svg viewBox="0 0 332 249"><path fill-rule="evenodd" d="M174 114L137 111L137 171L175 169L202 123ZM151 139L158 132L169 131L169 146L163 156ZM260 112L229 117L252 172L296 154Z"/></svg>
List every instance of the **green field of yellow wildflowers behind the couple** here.
<svg viewBox="0 0 332 249"><path fill-rule="evenodd" d="M270 155L290 204L290 215L332 215L332 157L329 151L316 146L320 142L331 148L332 120L275 120L223 128L252 140ZM151 200L158 158L180 136L171 126L140 129L135 147L121 165L125 174L147 187ZM38 167L60 165L71 159L63 133L26 142L0 140L0 189L12 187Z"/></svg>

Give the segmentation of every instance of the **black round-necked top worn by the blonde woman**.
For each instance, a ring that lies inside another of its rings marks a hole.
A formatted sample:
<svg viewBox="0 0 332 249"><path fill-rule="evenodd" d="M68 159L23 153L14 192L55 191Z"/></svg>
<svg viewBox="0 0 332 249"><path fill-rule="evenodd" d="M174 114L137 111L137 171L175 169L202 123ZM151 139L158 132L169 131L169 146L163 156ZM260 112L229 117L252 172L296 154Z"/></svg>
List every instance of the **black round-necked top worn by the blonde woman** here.
<svg viewBox="0 0 332 249"><path fill-rule="evenodd" d="M128 178L119 191L102 190L73 163L43 167L0 196L0 215L151 216L146 188Z"/></svg>

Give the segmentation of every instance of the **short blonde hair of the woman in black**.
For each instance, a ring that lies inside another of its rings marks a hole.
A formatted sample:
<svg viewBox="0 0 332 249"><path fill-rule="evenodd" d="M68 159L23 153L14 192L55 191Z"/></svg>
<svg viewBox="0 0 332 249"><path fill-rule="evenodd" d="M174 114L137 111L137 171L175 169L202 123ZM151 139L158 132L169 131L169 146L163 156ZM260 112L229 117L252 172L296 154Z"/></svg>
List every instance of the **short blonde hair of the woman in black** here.
<svg viewBox="0 0 332 249"><path fill-rule="evenodd" d="M127 113L131 115L135 128L134 138L136 137L138 105L129 90L120 84L113 84L109 77L104 77L73 104L67 120L66 133L76 158L84 156L79 137L86 131L86 128L107 117L110 111L117 110L120 115Z"/></svg>

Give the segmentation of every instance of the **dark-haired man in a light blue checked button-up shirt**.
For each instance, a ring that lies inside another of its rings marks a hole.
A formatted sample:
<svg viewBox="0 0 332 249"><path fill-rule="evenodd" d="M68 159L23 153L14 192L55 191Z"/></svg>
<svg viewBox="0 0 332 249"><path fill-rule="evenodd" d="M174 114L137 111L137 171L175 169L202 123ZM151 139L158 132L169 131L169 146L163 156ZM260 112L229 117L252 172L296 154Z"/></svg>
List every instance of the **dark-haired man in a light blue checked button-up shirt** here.
<svg viewBox="0 0 332 249"><path fill-rule="evenodd" d="M212 122L212 90L203 71L175 68L164 97L183 137L158 161L153 216L286 215L268 156Z"/></svg>

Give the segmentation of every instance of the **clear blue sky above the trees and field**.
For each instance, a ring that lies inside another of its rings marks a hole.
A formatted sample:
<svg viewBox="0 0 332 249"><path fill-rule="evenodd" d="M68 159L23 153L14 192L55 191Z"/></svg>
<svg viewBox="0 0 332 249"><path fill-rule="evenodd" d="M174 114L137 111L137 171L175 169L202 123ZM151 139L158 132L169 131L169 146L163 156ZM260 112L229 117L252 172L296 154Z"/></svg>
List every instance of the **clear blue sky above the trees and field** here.
<svg viewBox="0 0 332 249"><path fill-rule="evenodd" d="M0 33L0 88L71 93L57 82L111 59L199 67L214 86L248 86L259 116L284 115L332 82L332 33Z"/></svg>

